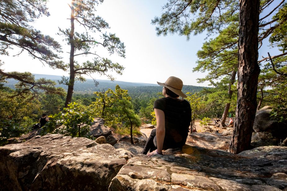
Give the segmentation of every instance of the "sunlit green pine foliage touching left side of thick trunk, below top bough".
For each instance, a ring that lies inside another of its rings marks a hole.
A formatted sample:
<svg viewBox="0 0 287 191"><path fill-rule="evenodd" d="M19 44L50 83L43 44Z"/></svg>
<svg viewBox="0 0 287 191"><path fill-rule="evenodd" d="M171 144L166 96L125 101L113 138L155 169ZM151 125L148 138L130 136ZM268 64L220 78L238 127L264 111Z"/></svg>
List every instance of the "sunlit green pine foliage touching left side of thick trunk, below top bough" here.
<svg viewBox="0 0 287 191"><path fill-rule="evenodd" d="M238 25L238 22L233 22L226 29L219 31L216 38L204 42L202 49L197 52L199 60L193 71L209 73L205 78L198 78L198 82L209 81L216 86L215 81L220 79L225 84L231 83L231 74L237 71ZM226 80L226 77L229 80Z"/></svg>

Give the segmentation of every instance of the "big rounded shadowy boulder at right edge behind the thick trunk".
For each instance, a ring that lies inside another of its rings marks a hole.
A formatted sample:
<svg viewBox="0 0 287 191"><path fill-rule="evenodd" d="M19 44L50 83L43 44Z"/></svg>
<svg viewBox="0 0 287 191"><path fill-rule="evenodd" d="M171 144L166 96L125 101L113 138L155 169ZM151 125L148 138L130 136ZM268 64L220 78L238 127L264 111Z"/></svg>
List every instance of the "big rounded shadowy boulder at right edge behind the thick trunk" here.
<svg viewBox="0 0 287 191"><path fill-rule="evenodd" d="M270 117L272 107L265 106L256 112L251 145L253 147L274 145L287 137L287 125Z"/></svg>

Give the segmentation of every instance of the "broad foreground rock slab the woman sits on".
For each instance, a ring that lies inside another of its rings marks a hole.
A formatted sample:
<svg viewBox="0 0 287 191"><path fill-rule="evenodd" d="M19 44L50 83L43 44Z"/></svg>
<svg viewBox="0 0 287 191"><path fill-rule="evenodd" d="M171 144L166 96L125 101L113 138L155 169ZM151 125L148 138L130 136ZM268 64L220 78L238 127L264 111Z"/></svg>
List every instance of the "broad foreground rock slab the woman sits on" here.
<svg viewBox="0 0 287 191"><path fill-rule="evenodd" d="M260 147L234 155L185 145L181 152L168 153L151 158L139 154L129 159L111 181L109 191L287 188L287 147Z"/></svg>

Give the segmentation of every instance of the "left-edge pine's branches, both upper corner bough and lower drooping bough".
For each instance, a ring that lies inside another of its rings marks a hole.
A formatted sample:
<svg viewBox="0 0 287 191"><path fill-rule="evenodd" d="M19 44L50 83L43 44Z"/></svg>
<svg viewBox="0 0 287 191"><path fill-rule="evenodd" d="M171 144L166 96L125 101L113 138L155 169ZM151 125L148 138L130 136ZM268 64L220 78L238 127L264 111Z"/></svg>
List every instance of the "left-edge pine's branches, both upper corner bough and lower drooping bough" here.
<svg viewBox="0 0 287 191"><path fill-rule="evenodd" d="M49 16L46 0L0 1L0 55L9 55L9 49L19 48L20 52L17 55L25 51L43 64L65 70L65 64L58 55L61 52L60 44L31 26L40 16ZM2 64L0 60L0 66ZM4 69L0 69L0 78L19 80L16 95L24 96L30 90L36 95L39 89L47 93L64 93L61 88L54 87L55 82L43 78L35 80L29 72L6 73Z"/></svg>

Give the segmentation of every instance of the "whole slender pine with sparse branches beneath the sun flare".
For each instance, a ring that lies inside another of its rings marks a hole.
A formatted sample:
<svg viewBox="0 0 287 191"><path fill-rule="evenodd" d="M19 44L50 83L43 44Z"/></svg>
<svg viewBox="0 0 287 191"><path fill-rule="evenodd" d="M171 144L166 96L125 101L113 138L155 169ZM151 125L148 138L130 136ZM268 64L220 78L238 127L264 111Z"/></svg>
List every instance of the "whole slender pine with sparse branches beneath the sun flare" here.
<svg viewBox="0 0 287 191"><path fill-rule="evenodd" d="M70 28L60 29L59 34L63 35L68 45L70 45L70 77L63 77L62 80L62 83L68 85L65 107L72 100L75 80L85 80L82 76L83 74L99 73L113 80L114 78L107 72L115 71L118 74L122 74L124 69L120 64L113 63L107 58L102 58L94 49L102 46L110 54L116 52L119 56L125 57L125 46L115 34L102 33L99 40L94 37L95 33L101 33L102 30L109 28L105 20L95 15L96 5L101 2L103 0L71 0L69 5L71 9ZM81 28L85 29L86 32L77 32L81 31ZM76 56L88 55L94 56L92 61L87 60L82 64L75 61Z"/></svg>

